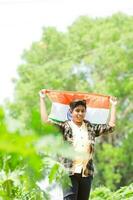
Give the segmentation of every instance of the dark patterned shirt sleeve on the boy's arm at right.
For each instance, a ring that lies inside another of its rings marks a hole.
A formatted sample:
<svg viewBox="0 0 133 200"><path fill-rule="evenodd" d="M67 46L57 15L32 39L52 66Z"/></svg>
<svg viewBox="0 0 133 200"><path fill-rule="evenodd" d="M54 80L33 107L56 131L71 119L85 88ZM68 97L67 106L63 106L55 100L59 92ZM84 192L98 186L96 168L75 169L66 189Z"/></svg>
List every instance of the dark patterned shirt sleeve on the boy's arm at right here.
<svg viewBox="0 0 133 200"><path fill-rule="evenodd" d="M115 127L111 127L109 124L92 124L92 127L95 132L95 137L112 133L115 129Z"/></svg>

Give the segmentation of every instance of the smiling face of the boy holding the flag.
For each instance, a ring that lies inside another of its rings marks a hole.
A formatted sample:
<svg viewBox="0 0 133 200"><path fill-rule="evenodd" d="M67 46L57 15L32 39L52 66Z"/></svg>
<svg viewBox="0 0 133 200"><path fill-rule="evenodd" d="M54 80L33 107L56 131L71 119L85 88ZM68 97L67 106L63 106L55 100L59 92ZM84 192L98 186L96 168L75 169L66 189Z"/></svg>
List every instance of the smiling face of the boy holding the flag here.
<svg viewBox="0 0 133 200"><path fill-rule="evenodd" d="M73 111L71 111L71 113L72 113L73 122L82 123L85 118L86 109L84 106L79 105L79 106L75 107L73 109Z"/></svg>

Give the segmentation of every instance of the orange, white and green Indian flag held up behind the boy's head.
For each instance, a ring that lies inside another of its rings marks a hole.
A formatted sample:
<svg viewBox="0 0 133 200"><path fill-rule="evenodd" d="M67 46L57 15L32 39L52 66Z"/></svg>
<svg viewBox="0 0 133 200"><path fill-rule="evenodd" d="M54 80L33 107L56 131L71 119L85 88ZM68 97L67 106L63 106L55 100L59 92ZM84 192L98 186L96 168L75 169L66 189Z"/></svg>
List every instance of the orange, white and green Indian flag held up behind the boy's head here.
<svg viewBox="0 0 133 200"><path fill-rule="evenodd" d="M110 96L73 91L45 90L52 102L50 120L65 121L71 119L69 104L73 100L86 100L87 112L85 119L91 123L105 124L109 117ZM43 92L43 91L42 91Z"/></svg>

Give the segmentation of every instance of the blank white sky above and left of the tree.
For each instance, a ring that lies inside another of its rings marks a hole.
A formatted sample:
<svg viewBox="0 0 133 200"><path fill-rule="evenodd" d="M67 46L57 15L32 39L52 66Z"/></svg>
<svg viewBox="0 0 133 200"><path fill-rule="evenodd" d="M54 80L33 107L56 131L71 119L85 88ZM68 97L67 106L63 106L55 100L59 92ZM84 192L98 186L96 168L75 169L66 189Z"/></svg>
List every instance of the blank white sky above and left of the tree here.
<svg viewBox="0 0 133 200"><path fill-rule="evenodd" d="M42 27L65 31L80 15L133 15L133 0L0 0L0 104L12 99L24 49L40 39Z"/></svg>

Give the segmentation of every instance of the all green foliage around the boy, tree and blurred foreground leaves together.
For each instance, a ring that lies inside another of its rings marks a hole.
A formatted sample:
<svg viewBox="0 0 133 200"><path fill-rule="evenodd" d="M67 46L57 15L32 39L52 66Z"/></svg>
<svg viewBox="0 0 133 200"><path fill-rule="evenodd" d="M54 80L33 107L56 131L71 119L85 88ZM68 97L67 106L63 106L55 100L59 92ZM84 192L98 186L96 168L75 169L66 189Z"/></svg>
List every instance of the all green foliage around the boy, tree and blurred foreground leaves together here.
<svg viewBox="0 0 133 200"><path fill-rule="evenodd" d="M46 174L50 174L51 181L59 182L60 177L65 176L55 161L57 153L64 149L60 134L42 125L40 120L38 91L42 88L118 97L116 130L96 142L93 190L104 186L112 195L111 190L133 182L132 55L132 16L122 13L95 19L82 16L68 27L67 32L44 27L40 40L23 52L18 79L14 80L14 101L6 102L6 111L3 108L0 111L2 197L24 199L22 194L25 194L28 199L32 199L32 195L33 199L48 198L37 188L36 181ZM50 108L48 100L47 107ZM5 112L8 117L4 116ZM13 131L9 130L9 121L11 127L15 126ZM38 147L40 141L44 142L42 149ZM51 159L50 163L55 163L48 166L46 157ZM129 188L131 193L132 185ZM104 189L96 189L94 195L99 196L97 191Z"/></svg>

